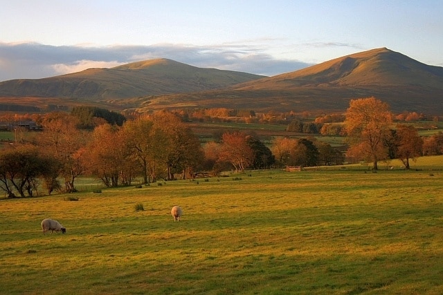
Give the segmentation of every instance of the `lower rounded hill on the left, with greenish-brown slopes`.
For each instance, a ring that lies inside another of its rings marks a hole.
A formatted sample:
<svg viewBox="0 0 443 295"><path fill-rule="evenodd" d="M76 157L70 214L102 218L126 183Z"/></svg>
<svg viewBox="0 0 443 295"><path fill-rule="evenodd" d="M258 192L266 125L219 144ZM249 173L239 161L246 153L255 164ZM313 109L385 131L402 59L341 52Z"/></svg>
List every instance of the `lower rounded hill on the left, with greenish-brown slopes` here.
<svg viewBox="0 0 443 295"><path fill-rule="evenodd" d="M224 88L264 76L197 68L171 59L138 61L115 68L89 68L43 79L0 82L0 96L125 99Z"/></svg>

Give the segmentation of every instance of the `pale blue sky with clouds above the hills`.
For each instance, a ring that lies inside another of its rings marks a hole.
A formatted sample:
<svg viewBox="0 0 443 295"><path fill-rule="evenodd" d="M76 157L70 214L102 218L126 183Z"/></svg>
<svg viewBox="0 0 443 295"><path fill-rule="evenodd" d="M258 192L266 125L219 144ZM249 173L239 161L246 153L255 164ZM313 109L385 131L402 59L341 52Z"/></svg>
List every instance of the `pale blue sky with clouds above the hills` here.
<svg viewBox="0 0 443 295"><path fill-rule="evenodd" d="M0 0L0 81L168 58L273 76L386 47L443 66L441 0Z"/></svg>

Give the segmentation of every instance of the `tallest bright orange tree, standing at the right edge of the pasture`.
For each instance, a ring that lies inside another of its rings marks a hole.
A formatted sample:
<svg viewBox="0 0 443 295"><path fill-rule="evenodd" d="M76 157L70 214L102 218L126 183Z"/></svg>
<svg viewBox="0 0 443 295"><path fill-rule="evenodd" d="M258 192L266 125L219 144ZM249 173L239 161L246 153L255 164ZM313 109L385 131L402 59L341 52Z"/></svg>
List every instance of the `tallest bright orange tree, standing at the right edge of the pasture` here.
<svg viewBox="0 0 443 295"><path fill-rule="evenodd" d="M346 111L345 131L350 142L350 151L359 150L361 155L373 163L387 156L386 138L390 136L392 114L388 104L374 97L352 99Z"/></svg>

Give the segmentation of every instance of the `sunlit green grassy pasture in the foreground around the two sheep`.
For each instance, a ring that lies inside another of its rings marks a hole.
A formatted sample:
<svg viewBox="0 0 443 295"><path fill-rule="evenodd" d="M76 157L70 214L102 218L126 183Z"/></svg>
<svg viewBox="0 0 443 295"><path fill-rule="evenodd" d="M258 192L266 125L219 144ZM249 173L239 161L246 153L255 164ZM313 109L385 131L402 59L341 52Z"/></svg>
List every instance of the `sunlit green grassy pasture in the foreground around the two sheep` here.
<svg viewBox="0 0 443 295"><path fill-rule="evenodd" d="M0 200L0 293L442 294L443 158L428 162ZM48 217L66 234L44 236Z"/></svg>

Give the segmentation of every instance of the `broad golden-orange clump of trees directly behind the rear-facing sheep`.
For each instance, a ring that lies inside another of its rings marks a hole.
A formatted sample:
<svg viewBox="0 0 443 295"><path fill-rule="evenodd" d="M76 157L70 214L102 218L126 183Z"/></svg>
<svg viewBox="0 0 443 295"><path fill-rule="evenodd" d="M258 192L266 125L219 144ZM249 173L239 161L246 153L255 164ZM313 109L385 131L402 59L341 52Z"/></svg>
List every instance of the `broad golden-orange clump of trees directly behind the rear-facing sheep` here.
<svg viewBox="0 0 443 295"><path fill-rule="evenodd" d="M198 137L173 113L160 111L129 120L123 131L145 183L158 177L173 180L174 173L192 176L203 162Z"/></svg>

